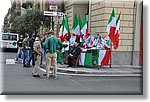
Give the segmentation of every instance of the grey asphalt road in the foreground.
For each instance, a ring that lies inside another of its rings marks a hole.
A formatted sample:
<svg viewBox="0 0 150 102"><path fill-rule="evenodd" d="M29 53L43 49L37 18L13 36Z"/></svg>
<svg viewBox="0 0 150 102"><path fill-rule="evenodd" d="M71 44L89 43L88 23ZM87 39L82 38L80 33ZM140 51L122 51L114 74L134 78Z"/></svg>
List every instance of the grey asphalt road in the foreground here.
<svg viewBox="0 0 150 102"><path fill-rule="evenodd" d="M33 78L32 68L22 64L6 65L3 53L2 94L142 94L142 77L79 77L58 75L58 79ZM42 75L43 72L41 71Z"/></svg>

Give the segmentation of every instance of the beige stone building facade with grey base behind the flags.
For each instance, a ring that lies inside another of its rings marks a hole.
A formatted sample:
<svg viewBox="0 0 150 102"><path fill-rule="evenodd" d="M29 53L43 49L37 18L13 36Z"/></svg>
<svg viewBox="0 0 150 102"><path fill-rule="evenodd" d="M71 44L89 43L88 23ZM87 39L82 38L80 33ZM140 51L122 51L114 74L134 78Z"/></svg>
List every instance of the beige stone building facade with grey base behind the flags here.
<svg viewBox="0 0 150 102"><path fill-rule="evenodd" d="M84 11L88 16L88 30L91 34L108 35L107 23L115 10L116 19L120 18L120 41L117 50L112 49L112 64L115 65L142 65L141 49L143 46L141 34L142 1L137 0L65 0L65 9L69 18L70 27L75 14L81 17ZM143 33L142 33L143 34Z"/></svg>

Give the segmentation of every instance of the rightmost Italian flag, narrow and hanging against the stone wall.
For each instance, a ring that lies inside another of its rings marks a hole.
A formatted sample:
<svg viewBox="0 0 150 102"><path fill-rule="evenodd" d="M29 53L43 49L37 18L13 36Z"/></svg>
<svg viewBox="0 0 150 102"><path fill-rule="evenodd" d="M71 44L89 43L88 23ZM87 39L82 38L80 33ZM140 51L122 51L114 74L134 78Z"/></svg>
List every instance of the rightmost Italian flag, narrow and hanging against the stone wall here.
<svg viewBox="0 0 150 102"><path fill-rule="evenodd" d="M119 28L120 28L120 15L121 15L121 12L117 18L117 21L116 21L116 32L115 32L115 40L114 40L114 49L117 49L118 48L118 44L119 44Z"/></svg>

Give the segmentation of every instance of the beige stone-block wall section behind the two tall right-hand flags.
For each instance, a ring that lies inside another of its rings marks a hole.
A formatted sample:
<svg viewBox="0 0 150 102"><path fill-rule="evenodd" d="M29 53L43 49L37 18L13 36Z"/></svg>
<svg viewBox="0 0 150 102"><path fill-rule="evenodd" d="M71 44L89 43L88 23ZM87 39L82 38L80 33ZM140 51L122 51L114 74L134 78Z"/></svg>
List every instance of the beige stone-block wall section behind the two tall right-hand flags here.
<svg viewBox="0 0 150 102"><path fill-rule="evenodd" d="M91 32L107 35L106 26L114 8L116 19L121 12L120 43L117 51L132 51L135 23L134 3L134 0L92 0Z"/></svg>

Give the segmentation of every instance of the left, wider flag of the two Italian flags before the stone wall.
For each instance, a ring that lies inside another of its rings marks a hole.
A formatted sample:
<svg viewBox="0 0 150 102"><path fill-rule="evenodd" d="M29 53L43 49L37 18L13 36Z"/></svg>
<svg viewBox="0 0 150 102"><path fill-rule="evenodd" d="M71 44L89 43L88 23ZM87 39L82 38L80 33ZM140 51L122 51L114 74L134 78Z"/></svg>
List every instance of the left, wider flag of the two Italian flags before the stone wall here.
<svg viewBox="0 0 150 102"><path fill-rule="evenodd" d="M108 24L107 24L107 29L106 29L113 44L114 44L115 30L116 30L116 19L115 19L115 12L113 8Z"/></svg>

